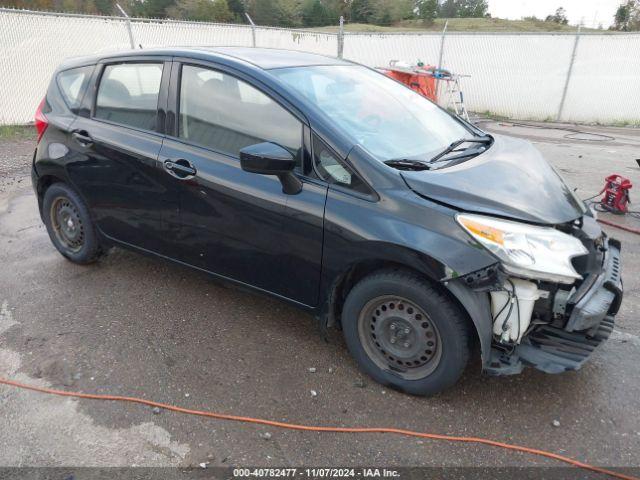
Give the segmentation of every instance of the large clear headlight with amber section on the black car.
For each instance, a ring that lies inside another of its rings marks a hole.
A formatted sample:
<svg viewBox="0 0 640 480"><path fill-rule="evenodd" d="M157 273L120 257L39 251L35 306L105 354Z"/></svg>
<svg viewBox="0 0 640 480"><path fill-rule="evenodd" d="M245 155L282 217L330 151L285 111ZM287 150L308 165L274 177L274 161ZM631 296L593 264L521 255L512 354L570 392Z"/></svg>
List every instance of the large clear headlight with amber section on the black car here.
<svg viewBox="0 0 640 480"><path fill-rule="evenodd" d="M589 252L571 235L482 215L461 214L456 219L511 274L569 284L582 278L571 259Z"/></svg>

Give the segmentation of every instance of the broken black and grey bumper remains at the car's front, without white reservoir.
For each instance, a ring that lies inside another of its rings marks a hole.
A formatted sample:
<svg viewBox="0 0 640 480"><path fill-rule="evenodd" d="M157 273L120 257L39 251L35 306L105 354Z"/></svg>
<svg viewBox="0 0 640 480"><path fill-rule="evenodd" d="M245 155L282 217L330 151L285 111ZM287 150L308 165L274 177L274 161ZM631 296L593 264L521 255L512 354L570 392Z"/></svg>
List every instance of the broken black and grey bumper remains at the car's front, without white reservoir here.
<svg viewBox="0 0 640 480"><path fill-rule="evenodd" d="M567 299L567 315L553 322L532 323L516 345L494 342L485 371L517 374L524 366L547 373L578 370L613 331L622 301L620 243L605 240L602 269L587 276Z"/></svg>

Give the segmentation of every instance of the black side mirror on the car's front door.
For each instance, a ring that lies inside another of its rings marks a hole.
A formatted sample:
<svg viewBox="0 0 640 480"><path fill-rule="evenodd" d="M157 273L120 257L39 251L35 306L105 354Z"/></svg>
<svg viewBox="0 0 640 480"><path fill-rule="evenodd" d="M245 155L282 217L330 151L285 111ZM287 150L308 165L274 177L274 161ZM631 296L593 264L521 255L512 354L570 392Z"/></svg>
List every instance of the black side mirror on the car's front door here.
<svg viewBox="0 0 640 480"><path fill-rule="evenodd" d="M240 150L240 166L245 172L276 175L282 191L295 195L302 190L302 182L293 174L296 159L288 150L271 142L250 145Z"/></svg>

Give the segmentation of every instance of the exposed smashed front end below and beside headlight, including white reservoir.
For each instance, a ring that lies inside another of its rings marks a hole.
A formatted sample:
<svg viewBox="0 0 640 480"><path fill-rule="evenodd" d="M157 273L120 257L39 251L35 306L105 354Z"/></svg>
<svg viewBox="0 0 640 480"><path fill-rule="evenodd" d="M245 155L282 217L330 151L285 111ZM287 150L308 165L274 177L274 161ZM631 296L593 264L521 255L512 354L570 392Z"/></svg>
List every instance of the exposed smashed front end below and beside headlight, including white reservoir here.
<svg viewBox="0 0 640 480"><path fill-rule="evenodd" d="M504 269L482 285L491 298L493 339L485 370L520 373L531 366L547 373L578 370L614 327L623 296L620 242L594 218L557 227L579 239L587 254L572 259L581 278L555 283L522 278Z"/></svg>

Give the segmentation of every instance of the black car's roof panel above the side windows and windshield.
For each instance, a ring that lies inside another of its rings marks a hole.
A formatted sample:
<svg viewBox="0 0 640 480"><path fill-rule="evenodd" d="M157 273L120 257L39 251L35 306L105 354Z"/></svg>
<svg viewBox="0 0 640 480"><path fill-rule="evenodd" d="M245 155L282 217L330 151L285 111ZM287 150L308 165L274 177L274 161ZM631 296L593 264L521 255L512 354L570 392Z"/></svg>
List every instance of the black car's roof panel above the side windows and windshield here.
<svg viewBox="0 0 640 480"><path fill-rule="evenodd" d="M306 67L314 65L351 65L351 62L335 57L318 55L316 53L299 52L296 50L281 50L276 48L256 47L170 47L141 50L123 50L118 52L93 55L70 59L63 63L62 68L72 68L81 64L96 62L102 59L117 59L119 57L140 56L176 56L197 58L201 60L218 60L221 58L236 60L238 63L251 64L263 70L287 67Z"/></svg>

